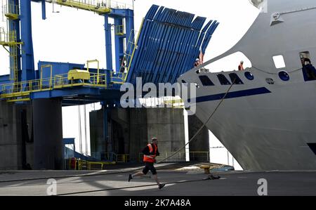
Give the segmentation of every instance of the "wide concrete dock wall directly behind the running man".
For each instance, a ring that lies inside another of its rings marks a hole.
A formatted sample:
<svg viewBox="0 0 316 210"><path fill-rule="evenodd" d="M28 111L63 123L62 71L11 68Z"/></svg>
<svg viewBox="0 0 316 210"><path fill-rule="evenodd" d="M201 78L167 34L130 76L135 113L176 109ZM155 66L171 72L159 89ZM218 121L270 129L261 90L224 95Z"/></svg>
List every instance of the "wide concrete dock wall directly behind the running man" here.
<svg viewBox="0 0 316 210"><path fill-rule="evenodd" d="M159 138L159 152L163 159L185 145L183 110L167 108L113 109L109 117L109 143L103 136L103 110L91 112L91 152L114 152L130 155L132 162L140 161L143 148L151 138ZM112 151L110 151L112 150ZM184 151L184 150L183 150ZM169 161L185 160L184 152Z"/></svg>

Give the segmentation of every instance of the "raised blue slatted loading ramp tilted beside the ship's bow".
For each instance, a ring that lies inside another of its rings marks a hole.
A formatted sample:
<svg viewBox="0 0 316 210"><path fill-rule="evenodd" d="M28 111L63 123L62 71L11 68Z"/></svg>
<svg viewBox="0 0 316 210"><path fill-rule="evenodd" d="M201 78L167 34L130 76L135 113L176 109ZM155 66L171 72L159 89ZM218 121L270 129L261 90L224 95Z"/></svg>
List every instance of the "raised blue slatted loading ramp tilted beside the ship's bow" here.
<svg viewBox="0 0 316 210"><path fill-rule="evenodd" d="M205 21L194 14L153 5L143 20L127 81L136 84L136 78L142 77L143 83L175 83L204 55L218 27L216 20L204 26Z"/></svg>

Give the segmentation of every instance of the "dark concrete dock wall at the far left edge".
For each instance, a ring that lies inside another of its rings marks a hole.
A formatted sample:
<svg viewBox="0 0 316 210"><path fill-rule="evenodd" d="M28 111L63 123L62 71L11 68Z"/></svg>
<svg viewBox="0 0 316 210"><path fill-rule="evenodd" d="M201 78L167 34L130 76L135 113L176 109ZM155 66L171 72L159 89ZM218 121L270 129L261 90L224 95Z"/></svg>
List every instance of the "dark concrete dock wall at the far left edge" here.
<svg viewBox="0 0 316 210"><path fill-rule="evenodd" d="M0 100L0 170L33 166L32 106Z"/></svg>

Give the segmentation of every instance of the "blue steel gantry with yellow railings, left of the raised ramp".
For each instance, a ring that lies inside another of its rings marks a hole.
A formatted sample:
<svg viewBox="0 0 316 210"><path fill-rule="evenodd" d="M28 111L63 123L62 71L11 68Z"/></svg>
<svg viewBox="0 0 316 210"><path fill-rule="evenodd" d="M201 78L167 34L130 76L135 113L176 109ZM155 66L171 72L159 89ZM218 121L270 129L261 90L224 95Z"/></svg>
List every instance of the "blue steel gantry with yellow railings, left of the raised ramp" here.
<svg viewBox="0 0 316 210"><path fill-rule="evenodd" d="M41 2L42 18L44 20L46 19L46 2L92 11L98 15L103 15L105 18L107 70L90 70L91 81L89 80L86 86L92 88L107 88L110 86L107 85L110 82L112 83L112 87L115 87L115 84L122 84L124 82L126 72L119 72L119 67L121 63L124 62L126 55L130 55L132 51L131 47L133 45L131 45L131 41L129 40L133 40L133 38L130 37L134 37L133 10L127 8L126 5L119 6L114 1L105 1L105 3L85 0L32 1ZM8 102L27 101L42 97L67 97L70 91L67 90L65 93L60 93L62 88L84 86L85 84L85 82L67 80L67 73L72 70L72 68L84 70L84 65L39 62L38 70L35 69L31 11L31 0L6 1L6 11L4 11L4 13L8 19L8 32L6 32L4 28L1 28L0 45L4 46L8 53L10 53L11 72L9 75L0 77L0 98ZM114 19L114 52L112 52L112 25L109 23L109 18ZM115 61L117 70L114 70L112 67L112 53L114 53L115 58L117 58ZM44 72L41 72L42 70ZM57 95L55 93L45 93L47 91L53 91L55 88L57 88L59 92ZM79 93L81 95L89 95L91 91L92 90L86 90ZM93 93L96 92L98 91L94 90ZM69 95L73 96L73 94ZM98 93L98 95L100 95L100 93Z"/></svg>

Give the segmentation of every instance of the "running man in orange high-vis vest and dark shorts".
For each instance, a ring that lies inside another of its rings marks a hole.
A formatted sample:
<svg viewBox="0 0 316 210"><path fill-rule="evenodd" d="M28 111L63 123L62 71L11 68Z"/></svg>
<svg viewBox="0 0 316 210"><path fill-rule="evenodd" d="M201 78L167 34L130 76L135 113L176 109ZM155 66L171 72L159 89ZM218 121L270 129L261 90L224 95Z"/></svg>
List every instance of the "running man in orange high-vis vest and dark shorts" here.
<svg viewBox="0 0 316 210"><path fill-rule="evenodd" d="M148 144L143 149L142 152L144 154L143 161L145 162L145 168L141 172L138 172L135 174L129 174L129 181L131 181L131 179L135 178L136 176L145 176L148 173L148 171L152 171L152 175L154 177L154 180L157 182L158 188L159 189L164 188L165 184L161 184L159 182L158 177L157 177L157 171L154 168L156 157L159 156L158 138L152 138L152 143Z"/></svg>

